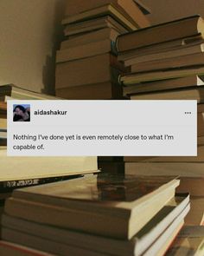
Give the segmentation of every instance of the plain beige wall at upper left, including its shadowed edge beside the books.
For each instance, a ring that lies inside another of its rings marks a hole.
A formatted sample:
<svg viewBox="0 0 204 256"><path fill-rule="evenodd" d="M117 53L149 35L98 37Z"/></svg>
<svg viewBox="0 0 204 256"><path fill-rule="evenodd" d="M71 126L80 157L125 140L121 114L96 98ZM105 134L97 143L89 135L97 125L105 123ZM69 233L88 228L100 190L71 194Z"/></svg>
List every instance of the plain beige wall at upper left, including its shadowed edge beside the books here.
<svg viewBox="0 0 204 256"><path fill-rule="evenodd" d="M65 0L0 1L0 84L54 93Z"/></svg>

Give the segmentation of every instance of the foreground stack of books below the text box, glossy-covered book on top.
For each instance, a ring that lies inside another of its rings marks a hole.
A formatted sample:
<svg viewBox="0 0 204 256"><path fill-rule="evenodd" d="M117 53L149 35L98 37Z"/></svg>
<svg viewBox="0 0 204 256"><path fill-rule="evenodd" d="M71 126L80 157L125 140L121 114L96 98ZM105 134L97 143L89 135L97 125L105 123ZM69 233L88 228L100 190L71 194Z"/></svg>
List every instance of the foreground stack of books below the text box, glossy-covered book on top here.
<svg viewBox="0 0 204 256"><path fill-rule="evenodd" d="M16 189L2 239L57 255L163 255L183 226L188 194L166 177L98 174Z"/></svg>

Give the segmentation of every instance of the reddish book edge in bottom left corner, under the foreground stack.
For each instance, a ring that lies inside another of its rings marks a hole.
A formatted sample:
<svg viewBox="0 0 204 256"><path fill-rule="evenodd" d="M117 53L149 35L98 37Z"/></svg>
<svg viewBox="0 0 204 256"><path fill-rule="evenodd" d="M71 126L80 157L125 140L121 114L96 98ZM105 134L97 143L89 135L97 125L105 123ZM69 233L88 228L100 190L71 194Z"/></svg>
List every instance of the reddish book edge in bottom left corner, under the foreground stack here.
<svg viewBox="0 0 204 256"><path fill-rule="evenodd" d="M31 247L20 246L3 240L0 240L0 254L1 256L52 256L50 253L41 252Z"/></svg>

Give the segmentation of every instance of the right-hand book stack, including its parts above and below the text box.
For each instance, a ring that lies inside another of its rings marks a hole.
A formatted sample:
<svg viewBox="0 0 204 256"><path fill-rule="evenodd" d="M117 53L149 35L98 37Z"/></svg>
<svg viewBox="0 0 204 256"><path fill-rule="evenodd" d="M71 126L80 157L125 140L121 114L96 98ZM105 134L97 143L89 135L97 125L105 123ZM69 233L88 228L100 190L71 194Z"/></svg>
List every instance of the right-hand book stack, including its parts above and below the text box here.
<svg viewBox="0 0 204 256"><path fill-rule="evenodd" d="M192 196L189 225L201 225L204 220L203 36L201 16L189 16L118 36L117 40L118 59L126 67L131 66L131 74L120 77L124 95L131 100L197 100L199 103L198 156L124 157L125 174L182 176L182 188Z"/></svg>

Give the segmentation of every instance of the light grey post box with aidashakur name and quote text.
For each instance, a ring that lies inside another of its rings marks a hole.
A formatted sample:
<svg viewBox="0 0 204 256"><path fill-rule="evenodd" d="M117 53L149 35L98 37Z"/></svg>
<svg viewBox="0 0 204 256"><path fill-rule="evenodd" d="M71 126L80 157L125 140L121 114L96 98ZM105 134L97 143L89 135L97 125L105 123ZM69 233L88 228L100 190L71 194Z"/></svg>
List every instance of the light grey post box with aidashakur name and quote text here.
<svg viewBox="0 0 204 256"><path fill-rule="evenodd" d="M196 156L195 101L8 101L8 156Z"/></svg>

